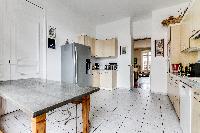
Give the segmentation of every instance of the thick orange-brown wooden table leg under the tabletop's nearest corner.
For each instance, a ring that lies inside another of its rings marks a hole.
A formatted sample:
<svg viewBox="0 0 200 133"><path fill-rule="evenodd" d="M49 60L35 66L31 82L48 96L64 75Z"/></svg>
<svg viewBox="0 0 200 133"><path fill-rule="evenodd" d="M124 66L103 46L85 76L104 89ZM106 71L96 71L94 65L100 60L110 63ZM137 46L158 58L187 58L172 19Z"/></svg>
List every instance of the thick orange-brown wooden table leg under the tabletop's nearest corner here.
<svg viewBox="0 0 200 133"><path fill-rule="evenodd" d="M32 133L46 133L46 114L32 118Z"/></svg>

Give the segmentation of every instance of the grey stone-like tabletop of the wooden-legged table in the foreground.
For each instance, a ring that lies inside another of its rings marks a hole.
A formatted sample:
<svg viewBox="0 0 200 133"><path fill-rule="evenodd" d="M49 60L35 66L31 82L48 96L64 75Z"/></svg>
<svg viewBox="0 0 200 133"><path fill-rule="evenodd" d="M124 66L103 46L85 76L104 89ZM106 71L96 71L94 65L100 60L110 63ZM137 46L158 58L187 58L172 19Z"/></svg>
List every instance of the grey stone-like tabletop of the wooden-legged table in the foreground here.
<svg viewBox="0 0 200 133"><path fill-rule="evenodd" d="M99 91L41 79L20 79L0 82L0 96L11 101L31 117L61 107L74 99Z"/></svg>

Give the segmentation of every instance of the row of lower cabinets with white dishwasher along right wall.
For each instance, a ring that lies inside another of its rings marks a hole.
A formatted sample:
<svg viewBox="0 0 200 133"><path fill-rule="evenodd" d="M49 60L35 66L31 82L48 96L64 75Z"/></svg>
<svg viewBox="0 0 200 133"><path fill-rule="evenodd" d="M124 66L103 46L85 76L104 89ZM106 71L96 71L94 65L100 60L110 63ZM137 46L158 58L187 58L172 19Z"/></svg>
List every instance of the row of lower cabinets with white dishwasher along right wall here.
<svg viewBox="0 0 200 133"><path fill-rule="evenodd" d="M188 85L187 78L168 76L168 96L180 119L183 133L200 133L200 88Z"/></svg>

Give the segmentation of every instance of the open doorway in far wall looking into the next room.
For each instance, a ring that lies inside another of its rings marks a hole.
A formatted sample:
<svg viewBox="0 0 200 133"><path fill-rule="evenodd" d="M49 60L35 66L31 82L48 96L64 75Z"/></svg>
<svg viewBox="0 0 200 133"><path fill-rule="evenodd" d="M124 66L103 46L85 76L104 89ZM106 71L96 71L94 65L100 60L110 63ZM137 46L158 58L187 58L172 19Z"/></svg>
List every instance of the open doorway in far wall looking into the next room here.
<svg viewBox="0 0 200 133"><path fill-rule="evenodd" d="M151 38L134 40L134 86L150 91Z"/></svg>

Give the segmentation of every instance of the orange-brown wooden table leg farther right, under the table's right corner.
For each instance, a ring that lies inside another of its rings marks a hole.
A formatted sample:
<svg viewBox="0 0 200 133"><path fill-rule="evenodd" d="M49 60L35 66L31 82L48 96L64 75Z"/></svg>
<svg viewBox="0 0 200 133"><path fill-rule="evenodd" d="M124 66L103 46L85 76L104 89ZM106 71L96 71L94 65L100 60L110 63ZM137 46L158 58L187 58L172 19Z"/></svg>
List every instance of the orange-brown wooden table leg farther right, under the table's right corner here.
<svg viewBox="0 0 200 133"><path fill-rule="evenodd" d="M90 96L82 98L83 133L89 133Z"/></svg>

